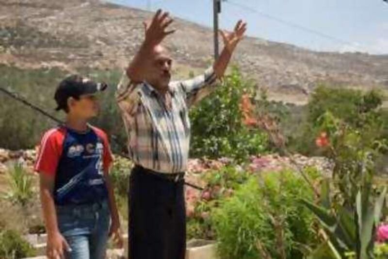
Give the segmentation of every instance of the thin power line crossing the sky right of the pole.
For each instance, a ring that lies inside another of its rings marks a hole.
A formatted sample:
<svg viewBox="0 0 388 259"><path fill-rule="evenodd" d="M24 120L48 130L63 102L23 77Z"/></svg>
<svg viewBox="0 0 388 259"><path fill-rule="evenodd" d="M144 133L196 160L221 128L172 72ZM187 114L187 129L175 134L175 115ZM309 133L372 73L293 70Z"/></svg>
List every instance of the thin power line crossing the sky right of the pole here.
<svg viewBox="0 0 388 259"><path fill-rule="evenodd" d="M266 13L264 13L262 11L259 11L257 9L252 8L252 7L249 7L249 6L246 6L246 5L234 2L234 1L227 0L225 2L230 4L230 5L237 6L237 7L241 8L241 9L246 10L246 11L249 11L249 12L252 12L252 13L256 13L256 14L262 16L262 17L266 17L268 19L275 20L276 22L282 23L284 25L293 27L295 29L298 29L298 30L301 30L301 31L304 31L304 32L307 32L307 33L310 33L310 34L318 35L320 37L323 37L323 38L326 38L326 39L330 39L332 41L336 41L336 42L339 42L341 44L352 45L352 46L355 45L354 42L346 41L346 40L337 38L335 36L328 35L328 34L320 32L320 31L317 31L317 30L314 30L314 29L311 29L311 28L308 28L308 27L305 27L305 26L302 26L302 25L299 25L299 24L296 24L296 23L293 23L293 22L290 22L290 21L287 21L287 20L275 17L275 16L272 16L272 15L269 15L269 14L266 14Z"/></svg>

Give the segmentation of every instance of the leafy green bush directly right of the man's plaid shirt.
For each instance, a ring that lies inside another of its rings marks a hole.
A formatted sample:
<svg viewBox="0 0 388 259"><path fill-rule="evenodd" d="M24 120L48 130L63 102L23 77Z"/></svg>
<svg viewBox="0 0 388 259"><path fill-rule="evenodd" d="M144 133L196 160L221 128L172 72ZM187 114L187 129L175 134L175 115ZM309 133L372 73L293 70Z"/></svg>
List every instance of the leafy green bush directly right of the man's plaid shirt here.
<svg viewBox="0 0 388 259"><path fill-rule="evenodd" d="M253 85L233 68L218 88L191 110L191 155L232 157L238 161L267 151L267 137L242 123L240 102Z"/></svg>

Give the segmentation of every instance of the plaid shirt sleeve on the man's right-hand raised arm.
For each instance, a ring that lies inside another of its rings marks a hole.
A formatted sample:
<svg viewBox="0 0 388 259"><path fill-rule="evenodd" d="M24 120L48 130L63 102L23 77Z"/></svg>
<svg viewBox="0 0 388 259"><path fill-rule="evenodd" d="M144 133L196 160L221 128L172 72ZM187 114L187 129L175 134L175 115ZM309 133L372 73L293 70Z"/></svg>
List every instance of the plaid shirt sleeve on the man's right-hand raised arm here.
<svg viewBox="0 0 388 259"><path fill-rule="evenodd" d="M205 73L185 81L174 82L175 86L181 87L186 94L187 106L192 106L209 95L217 85L217 75L212 67Z"/></svg>

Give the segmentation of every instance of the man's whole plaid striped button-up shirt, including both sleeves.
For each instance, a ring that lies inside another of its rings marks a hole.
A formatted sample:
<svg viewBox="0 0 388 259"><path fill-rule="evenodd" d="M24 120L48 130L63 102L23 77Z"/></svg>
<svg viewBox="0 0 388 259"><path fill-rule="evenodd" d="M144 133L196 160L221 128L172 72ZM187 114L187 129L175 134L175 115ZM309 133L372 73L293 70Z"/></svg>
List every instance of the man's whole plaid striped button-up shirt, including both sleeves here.
<svg viewBox="0 0 388 259"><path fill-rule="evenodd" d="M187 169L190 145L190 106L207 96L217 82L212 68L203 75L169 84L171 108L146 82L131 84L124 73L116 99L128 135L129 156L135 164L160 173Z"/></svg>

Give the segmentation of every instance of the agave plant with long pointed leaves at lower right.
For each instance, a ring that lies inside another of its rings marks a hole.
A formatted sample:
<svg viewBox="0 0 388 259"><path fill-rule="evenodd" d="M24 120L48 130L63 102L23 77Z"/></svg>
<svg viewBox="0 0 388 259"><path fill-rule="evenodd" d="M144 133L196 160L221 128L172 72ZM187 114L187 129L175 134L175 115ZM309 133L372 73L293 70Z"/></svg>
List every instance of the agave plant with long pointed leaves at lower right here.
<svg viewBox="0 0 388 259"><path fill-rule="evenodd" d="M307 200L302 203L318 218L327 235L326 241L314 250L310 258L344 258L353 252L357 259L373 258L376 226L379 224L387 187L373 198L372 185L365 180L357 192L355 209L334 208L329 196L329 180L321 188L321 204Z"/></svg>

